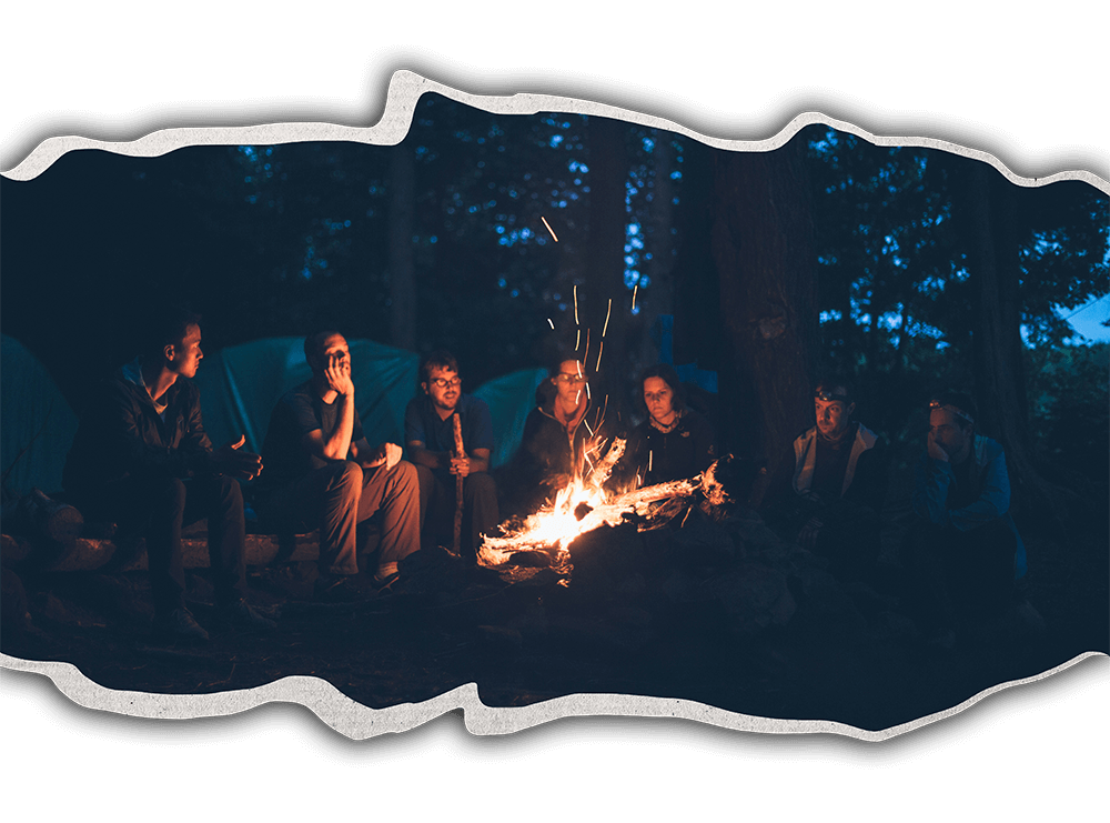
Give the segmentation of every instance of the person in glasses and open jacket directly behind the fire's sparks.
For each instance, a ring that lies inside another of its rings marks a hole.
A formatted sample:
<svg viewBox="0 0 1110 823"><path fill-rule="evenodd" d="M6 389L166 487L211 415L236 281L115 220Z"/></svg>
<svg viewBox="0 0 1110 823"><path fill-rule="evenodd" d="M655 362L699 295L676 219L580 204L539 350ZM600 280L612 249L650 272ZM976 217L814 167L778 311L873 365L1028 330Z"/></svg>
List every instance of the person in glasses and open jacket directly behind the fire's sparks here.
<svg viewBox="0 0 1110 823"><path fill-rule="evenodd" d="M536 390L536 408L524 421L521 446L505 474L506 509L514 514L535 512L581 474L591 445L610 445L604 409L591 399L582 361L561 360L548 374Z"/></svg>

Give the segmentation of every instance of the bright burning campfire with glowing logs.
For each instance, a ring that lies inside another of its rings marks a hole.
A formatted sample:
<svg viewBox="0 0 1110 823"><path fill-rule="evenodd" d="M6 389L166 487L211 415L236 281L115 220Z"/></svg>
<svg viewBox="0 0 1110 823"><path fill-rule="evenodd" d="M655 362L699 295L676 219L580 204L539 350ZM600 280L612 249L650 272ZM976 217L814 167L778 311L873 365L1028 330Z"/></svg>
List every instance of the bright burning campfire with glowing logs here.
<svg viewBox="0 0 1110 823"><path fill-rule="evenodd" d="M488 568L519 564L522 552L541 552L556 568L568 569L571 543L581 534L603 525L616 526L634 521L639 531L666 525L679 512L689 514L693 498L700 492L714 506L728 502L724 486L716 480L717 463L690 480L643 486L624 493L607 493L605 483L613 466L624 454L625 441L616 439L598 462L593 462L604 441L595 438L586 450L588 471L578 471L561 489L553 502L525 519L519 528L502 525L503 536L483 535L478 562ZM719 461L718 461L719 462ZM684 518L685 522L685 518ZM514 558L514 555L517 555Z"/></svg>

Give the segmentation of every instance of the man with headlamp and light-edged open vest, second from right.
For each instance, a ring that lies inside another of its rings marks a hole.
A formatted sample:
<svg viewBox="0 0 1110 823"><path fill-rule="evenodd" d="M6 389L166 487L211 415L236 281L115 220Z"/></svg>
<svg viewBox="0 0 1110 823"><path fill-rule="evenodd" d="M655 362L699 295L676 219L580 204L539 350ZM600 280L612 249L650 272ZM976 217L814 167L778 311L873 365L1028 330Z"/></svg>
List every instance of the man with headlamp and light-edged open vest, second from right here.
<svg viewBox="0 0 1110 823"><path fill-rule="evenodd" d="M879 554L879 513L887 492L882 441L852 420L856 403L844 380L814 391L816 425L784 458L794 468L768 490L765 514L797 535L798 544L828 558L830 571L867 578Z"/></svg>

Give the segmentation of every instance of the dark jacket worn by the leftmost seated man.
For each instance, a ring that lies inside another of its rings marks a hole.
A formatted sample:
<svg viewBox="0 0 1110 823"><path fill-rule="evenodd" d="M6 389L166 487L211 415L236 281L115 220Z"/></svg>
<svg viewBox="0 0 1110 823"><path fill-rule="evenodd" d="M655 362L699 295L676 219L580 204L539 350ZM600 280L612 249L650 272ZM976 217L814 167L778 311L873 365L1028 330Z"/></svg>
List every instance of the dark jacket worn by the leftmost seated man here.
<svg viewBox="0 0 1110 823"><path fill-rule="evenodd" d="M137 364L92 390L62 474L70 494L129 476L205 473L212 441L201 422L200 391L179 378L163 395L165 412L159 415L147 389L133 380Z"/></svg>

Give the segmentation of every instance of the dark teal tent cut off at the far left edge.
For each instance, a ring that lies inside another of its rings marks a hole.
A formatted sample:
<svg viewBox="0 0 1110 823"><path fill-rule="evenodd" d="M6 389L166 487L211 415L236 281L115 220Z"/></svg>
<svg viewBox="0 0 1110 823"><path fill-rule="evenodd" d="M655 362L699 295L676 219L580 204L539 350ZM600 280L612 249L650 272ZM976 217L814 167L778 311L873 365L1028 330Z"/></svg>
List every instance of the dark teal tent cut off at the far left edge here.
<svg viewBox="0 0 1110 823"><path fill-rule="evenodd" d="M57 493L62 488L65 455L77 434L77 415L42 363L18 340L3 334L0 373L0 473L14 463L6 480L7 489L17 495L34 488ZM36 439L40 429L42 433ZM28 444L30 448L16 462Z"/></svg>

